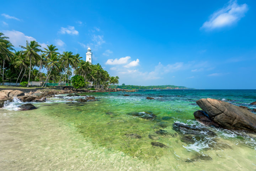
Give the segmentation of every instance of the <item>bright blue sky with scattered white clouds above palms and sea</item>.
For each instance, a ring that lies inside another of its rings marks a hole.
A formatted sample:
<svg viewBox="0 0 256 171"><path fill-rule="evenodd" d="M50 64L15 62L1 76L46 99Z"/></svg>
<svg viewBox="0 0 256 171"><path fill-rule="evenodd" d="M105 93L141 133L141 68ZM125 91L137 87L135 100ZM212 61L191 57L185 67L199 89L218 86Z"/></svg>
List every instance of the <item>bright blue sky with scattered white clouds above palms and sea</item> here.
<svg viewBox="0 0 256 171"><path fill-rule="evenodd" d="M119 84L256 89L256 1L1 2L0 32L100 63Z"/></svg>

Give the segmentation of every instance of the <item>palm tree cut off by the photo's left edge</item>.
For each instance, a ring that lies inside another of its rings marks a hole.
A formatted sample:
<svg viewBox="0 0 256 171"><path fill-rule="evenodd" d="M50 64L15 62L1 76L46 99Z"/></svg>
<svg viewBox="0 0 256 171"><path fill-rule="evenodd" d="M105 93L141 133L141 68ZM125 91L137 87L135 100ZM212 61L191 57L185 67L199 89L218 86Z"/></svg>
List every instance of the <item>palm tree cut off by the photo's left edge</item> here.
<svg viewBox="0 0 256 171"><path fill-rule="evenodd" d="M14 54L11 50L14 50L10 41L8 41L9 37L4 36L3 33L0 32L0 59L3 61L2 64L2 81L4 81L4 64L5 61L10 61L11 56Z"/></svg>

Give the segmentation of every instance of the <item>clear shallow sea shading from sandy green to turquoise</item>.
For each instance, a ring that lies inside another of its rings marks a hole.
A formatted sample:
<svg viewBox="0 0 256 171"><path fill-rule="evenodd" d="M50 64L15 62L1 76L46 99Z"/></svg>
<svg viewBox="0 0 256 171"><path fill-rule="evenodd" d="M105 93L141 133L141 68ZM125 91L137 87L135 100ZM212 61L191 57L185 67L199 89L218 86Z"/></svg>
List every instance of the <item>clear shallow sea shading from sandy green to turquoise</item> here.
<svg viewBox="0 0 256 171"><path fill-rule="evenodd" d="M1 171L254 171L256 134L204 126L196 101L215 98L237 106L256 101L256 90L138 90L83 93L97 101L56 95L37 109L0 109ZM128 94L130 96L123 96ZM147 100L146 97L155 100ZM148 116L154 117L148 117ZM176 132L175 123L215 135ZM165 146L154 146L161 143Z"/></svg>

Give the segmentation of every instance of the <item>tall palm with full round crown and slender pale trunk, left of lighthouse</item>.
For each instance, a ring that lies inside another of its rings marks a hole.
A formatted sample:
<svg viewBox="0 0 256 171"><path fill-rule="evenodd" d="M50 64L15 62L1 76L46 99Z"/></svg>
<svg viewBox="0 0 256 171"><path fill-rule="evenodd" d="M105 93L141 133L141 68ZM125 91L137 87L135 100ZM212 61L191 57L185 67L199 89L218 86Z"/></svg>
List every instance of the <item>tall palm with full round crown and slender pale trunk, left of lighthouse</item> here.
<svg viewBox="0 0 256 171"><path fill-rule="evenodd" d="M30 71L28 76L28 85L30 82L30 73L31 73L31 60L33 58L34 62L36 62L38 59L40 59L40 56L37 54L37 52L40 52L41 50L38 49L38 47L41 47L36 41L30 41L30 43L26 43L26 47L20 46L24 50L24 54L26 54L28 57L30 57ZM27 85L27 87L28 87Z"/></svg>

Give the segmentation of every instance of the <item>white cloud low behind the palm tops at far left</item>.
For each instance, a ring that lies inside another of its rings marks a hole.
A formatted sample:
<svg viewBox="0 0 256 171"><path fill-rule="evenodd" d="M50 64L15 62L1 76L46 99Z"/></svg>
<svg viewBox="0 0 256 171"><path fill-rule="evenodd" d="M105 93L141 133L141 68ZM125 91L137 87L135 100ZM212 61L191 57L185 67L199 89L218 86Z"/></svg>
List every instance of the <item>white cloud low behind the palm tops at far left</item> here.
<svg viewBox="0 0 256 171"><path fill-rule="evenodd" d="M16 30L4 30L2 31L6 37L9 37L9 41L12 43L14 47L26 46L26 41L37 41L35 38L31 36L26 36L24 33L16 31ZM42 47L47 47L46 43L40 43L39 45Z"/></svg>

